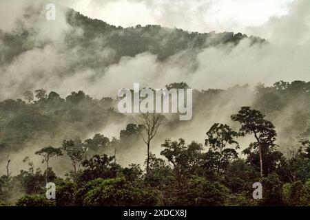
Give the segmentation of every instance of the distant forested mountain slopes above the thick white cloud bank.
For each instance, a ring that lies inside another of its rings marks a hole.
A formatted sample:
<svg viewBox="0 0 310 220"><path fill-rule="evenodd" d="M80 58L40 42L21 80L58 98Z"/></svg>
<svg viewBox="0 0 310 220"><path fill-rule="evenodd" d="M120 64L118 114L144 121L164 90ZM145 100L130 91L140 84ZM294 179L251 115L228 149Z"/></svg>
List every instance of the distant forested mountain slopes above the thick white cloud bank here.
<svg viewBox="0 0 310 220"><path fill-rule="evenodd" d="M183 56L189 58L207 47L238 45L242 39L249 39L251 44L265 43L265 40L259 37L248 37L246 34L234 32L201 34L177 28L164 28L160 25L115 27L104 21L85 17L74 10L67 10L65 19L68 28L61 32L59 40L63 42L57 45L59 42L55 43L54 39L38 40L41 38L40 9L34 6L25 8L23 18L12 32L0 30L0 64L3 67L14 63L23 53L46 48L50 50L50 47L56 47L59 57L68 60L65 69L57 69L59 72L54 73L64 77L87 68L102 71L105 67L118 63L123 56L133 57L143 52L156 55L158 61L165 61L179 52L185 52ZM72 56L72 59L68 56ZM40 74L33 76L37 77Z"/></svg>

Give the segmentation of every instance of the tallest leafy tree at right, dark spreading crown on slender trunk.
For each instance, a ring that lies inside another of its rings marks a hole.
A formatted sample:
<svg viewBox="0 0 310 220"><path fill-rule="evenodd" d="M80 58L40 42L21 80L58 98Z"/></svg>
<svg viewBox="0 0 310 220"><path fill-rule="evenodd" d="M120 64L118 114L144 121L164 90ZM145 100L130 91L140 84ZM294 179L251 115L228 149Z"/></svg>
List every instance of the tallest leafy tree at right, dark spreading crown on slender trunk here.
<svg viewBox="0 0 310 220"><path fill-rule="evenodd" d="M231 120L240 122L239 135L254 134L256 142L253 143L254 148L258 147L260 157L260 176L262 171L262 155L267 153L269 148L276 146L276 130L271 122L265 119L260 111L251 109L250 107L242 107L236 115L231 115Z"/></svg>

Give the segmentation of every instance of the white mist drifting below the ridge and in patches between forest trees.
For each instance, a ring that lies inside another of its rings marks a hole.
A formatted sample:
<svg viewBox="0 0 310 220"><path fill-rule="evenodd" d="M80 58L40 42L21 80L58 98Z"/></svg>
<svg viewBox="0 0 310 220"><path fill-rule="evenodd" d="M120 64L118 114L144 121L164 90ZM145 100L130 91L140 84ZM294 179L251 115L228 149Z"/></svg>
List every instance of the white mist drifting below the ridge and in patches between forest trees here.
<svg viewBox="0 0 310 220"><path fill-rule="evenodd" d="M132 88L134 83L140 83L141 88L160 89L170 83L184 81L198 90L229 89L235 85L249 85L247 91L251 92L245 94L242 89L231 89L216 102L209 103L207 112L203 107L199 110L200 103L194 103L198 106L198 110L194 112L192 121L180 124L174 131L169 126L161 127L152 142L152 152L156 154L161 151L160 145L166 138L174 140L183 137L187 142L196 140L204 143L206 131L215 122L227 123L238 128L231 122L230 115L236 113L241 106L253 104L254 87L258 83L271 86L279 80L289 82L310 80L310 9L307 0L292 1L287 13L269 17L260 25L246 25L243 28L249 31L249 34L265 37L266 43L253 44L250 39L242 39L238 45L232 43L212 45L206 41L205 48L181 50L164 61L158 59L157 54L143 52L134 56L122 56L116 62L117 52L105 44L104 36L94 37L87 50L79 43L71 42L85 34L83 29L73 27L67 22L65 6L72 6L72 1L65 2L63 6L57 4L56 21L45 20L45 3L45 1L0 3L1 9L7 8L7 12L0 13L1 100L23 98L25 91L41 88L56 91L61 97L68 96L72 91L83 90L85 94L101 99L116 98L119 89ZM147 1L147 5L159 7L154 1ZM186 5L185 2L181 8L185 10ZM204 5L201 14L205 13L208 7L211 6ZM180 14L174 12L172 8L164 14L174 15L172 21L175 21L176 28L188 28L191 31L189 27L195 21L180 25L183 20L178 20ZM159 20L151 17L149 20L152 19L154 23L165 23L167 17L161 17ZM212 28L214 25L210 24L207 30L212 31ZM25 31L26 35L23 35ZM166 29L162 31L169 32ZM5 42L10 37L17 39L13 45ZM289 121L287 123L290 123L293 120L292 112L291 107L287 107L282 115L267 115L279 128L279 142L285 142L287 138L286 130L282 131L284 126L282 117L287 117ZM107 124L93 133L80 131L77 134L81 135L82 140L92 137L95 133L103 133L110 138L119 137L121 129L124 129L128 122L134 122L132 118L121 122L113 120L114 118L110 118ZM59 131L63 132L65 131ZM57 140L40 137L30 142L23 150L14 153L12 160L21 162L25 155L29 155L30 148L34 152L45 145L59 146L59 140L65 138L65 133ZM251 140L242 139L240 142L245 148ZM143 149L145 149L143 143L137 142L136 148L130 148L130 153L125 151L123 155L119 155L120 163L143 164L145 154L139 153ZM39 164L41 159L32 156L35 164ZM0 164L1 171L4 163ZM62 163L65 163L63 159L56 159L52 166L56 172L63 175L65 171L62 169ZM12 167L13 172L18 173L21 166L23 165L15 164ZM4 173L4 170L1 173Z"/></svg>

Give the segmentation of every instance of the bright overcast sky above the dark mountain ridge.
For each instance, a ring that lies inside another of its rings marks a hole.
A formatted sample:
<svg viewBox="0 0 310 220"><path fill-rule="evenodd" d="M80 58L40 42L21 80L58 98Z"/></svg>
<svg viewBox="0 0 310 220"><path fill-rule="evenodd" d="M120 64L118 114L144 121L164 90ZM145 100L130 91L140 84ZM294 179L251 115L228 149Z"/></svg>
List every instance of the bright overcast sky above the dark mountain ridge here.
<svg viewBox="0 0 310 220"><path fill-rule="evenodd" d="M287 14L292 1L296 0L69 0L68 5L124 27L159 24L197 32L245 32Z"/></svg>

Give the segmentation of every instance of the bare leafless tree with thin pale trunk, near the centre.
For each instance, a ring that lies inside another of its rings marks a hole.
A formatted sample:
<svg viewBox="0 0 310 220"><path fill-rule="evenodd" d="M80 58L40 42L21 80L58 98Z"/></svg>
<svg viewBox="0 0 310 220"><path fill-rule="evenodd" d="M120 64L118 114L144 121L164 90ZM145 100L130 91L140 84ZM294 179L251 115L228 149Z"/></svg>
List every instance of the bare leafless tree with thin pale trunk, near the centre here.
<svg viewBox="0 0 310 220"><path fill-rule="evenodd" d="M136 122L143 128L141 135L147 145L147 174L149 173L149 146L161 125L161 115L157 113L141 113Z"/></svg>

